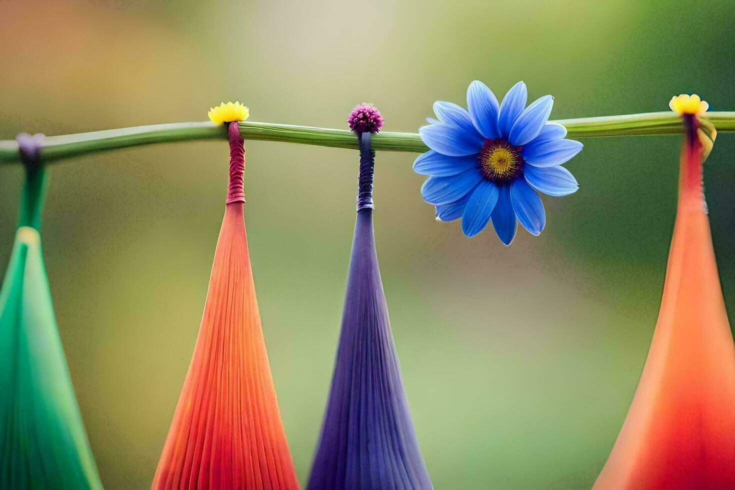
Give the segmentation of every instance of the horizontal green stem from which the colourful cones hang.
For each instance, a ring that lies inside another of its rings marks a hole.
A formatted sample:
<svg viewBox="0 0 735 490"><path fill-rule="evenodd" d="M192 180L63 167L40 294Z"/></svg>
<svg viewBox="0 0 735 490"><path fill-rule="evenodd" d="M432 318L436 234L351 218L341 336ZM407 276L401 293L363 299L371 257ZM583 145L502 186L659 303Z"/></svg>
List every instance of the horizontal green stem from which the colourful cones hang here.
<svg viewBox="0 0 735 490"><path fill-rule="evenodd" d="M735 131L735 112L708 112L707 118L717 131ZM679 134L684 131L681 118L674 112L649 112L603 116L600 118L563 119L552 121L567 128L567 137L634 136L642 134ZM240 123L245 140L282 141L306 145L357 149L357 138L346 129L314 128L276 123ZM204 123L171 123L133 128L107 129L89 133L49 136L40 151L41 162L53 162L71 156L98 151L127 148L151 143L184 140L226 139L226 126ZM426 151L417 133L382 131L373 137L373 149L382 151ZM0 140L0 164L20 162L18 143Z"/></svg>

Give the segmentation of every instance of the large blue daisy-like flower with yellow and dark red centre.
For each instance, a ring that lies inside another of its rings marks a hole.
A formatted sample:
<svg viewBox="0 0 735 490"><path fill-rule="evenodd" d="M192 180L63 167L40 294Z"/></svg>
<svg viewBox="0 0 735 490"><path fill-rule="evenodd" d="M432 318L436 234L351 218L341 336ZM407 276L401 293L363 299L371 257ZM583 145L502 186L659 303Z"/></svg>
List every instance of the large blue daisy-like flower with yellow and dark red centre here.
<svg viewBox="0 0 735 490"><path fill-rule="evenodd" d="M552 96L526 107L526 84L518 82L503 102L482 82L467 88L467 109L437 101L437 119L419 134L430 151L414 162L416 173L429 176L421 187L437 219L462 218L462 231L473 237L492 220L505 245L515 237L517 221L538 235L546 213L537 191L568 195L579 188L562 167L582 149L565 140L567 129L549 123Z"/></svg>

